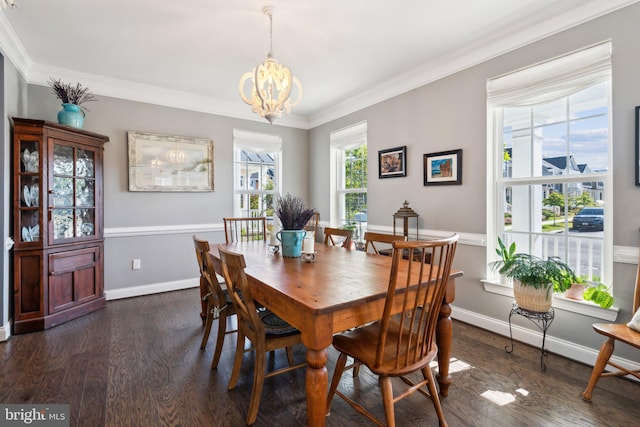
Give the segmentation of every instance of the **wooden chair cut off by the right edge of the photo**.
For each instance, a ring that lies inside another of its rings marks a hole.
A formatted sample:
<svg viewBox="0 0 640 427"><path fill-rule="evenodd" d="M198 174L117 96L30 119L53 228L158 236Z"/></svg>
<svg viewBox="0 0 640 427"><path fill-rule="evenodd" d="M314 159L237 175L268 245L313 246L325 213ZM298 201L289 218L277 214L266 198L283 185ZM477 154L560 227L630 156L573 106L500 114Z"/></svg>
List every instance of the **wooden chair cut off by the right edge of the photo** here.
<svg viewBox="0 0 640 427"><path fill-rule="evenodd" d="M638 315L638 309L640 309L640 261L638 262L638 270L636 271L636 288L633 295L633 312L636 313L636 316ZM607 337L607 339L600 347L598 358L593 365L593 371L591 371L589 383L587 384L587 388L582 392L582 398L588 402L591 401L593 389L602 377L624 377L632 375L640 380L640 370L627 369L609 360L613 354L616 341L640 349L640 332L631 329L625 323L594 323L593 329L597 333ZM615 368L615 370L605 372L607 365Z"/></svg>

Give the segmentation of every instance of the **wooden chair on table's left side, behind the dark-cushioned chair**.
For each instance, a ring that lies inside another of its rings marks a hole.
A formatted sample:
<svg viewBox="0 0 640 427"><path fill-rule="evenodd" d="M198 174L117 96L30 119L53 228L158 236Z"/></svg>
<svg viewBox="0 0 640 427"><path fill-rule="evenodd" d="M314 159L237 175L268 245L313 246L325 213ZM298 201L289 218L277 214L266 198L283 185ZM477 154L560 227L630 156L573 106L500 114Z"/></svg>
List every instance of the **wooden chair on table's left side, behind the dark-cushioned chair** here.
<svg viewBox="0 0 640 427"><path fill-rule="evenodd" d="M220 361L225 335L237 332L236 329L227 330L227 318L235 315L236 310L231 302L229 293L218 281L218 275L222 273L220 263L208 256L210 251L209 242L193 236L193 243L196 248L198 265L200 266L200 292L202 293L203 286L204 289L206 289L206 293L202 296L202 300L205 303L206 317L202 342L200 343L201 349L207 346L214 320L218 321L218 335L216 337L216 346L211 361L211 369L215 369L218 367L218 362ZM218 274L216 274L216 272Z"/></svg>

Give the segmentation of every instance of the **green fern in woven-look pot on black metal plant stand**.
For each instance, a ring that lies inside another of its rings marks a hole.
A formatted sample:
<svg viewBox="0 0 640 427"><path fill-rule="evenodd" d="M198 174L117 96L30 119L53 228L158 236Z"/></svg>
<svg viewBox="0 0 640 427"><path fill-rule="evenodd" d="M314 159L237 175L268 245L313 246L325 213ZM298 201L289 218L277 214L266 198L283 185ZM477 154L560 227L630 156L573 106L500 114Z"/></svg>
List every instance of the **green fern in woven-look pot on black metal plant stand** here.
<svg viewBox="0 0 640 427"><path fill-rule="evenodd" d="M515 253L507 261L491 263L491 267L513 279L516 303L536 312L549 311L553 293L566 291L577 280L571 267L557 257Z"/></svg>

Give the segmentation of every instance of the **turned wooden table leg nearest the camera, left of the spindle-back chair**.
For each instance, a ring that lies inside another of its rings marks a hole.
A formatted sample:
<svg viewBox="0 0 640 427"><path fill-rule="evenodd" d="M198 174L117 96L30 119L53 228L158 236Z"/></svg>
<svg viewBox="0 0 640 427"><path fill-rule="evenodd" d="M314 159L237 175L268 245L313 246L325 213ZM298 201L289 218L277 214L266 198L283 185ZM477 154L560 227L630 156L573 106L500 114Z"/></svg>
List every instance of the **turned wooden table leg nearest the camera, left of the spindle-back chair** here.
<svg viewBox="0 0 640 427"><path fill-rule="evenodd" d="M327 349L307 349L307 421L309 426L324 426L327 418Z"/></svg>

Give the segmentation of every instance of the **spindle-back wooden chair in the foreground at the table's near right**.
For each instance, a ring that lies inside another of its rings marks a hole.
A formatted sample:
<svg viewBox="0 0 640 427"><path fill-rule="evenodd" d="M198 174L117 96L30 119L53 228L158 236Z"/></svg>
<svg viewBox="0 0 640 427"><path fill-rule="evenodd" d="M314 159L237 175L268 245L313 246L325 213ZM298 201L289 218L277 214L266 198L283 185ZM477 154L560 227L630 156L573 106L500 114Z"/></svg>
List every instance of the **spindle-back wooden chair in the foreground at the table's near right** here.
<svg viewBox="0 0 640 427"><path fill-rule="evenodd" d="M416 391L433 401L440 425L447 425L429 363L438 353L436 323L457 245L457 234L429 242L393 242L393 260L382 318L333 338L333 346L340 356L329 388L327 411L336 394L374 423L384 425L347 393L338 390L345 369L363 364L379 376L386 425L395 426L395 402ZM403 259L405 250L410 252L408 259ZM431 264L424 263L428 255L431 256ZM409 292L407 288L410 288ZM347 367L347 357L356 362ZM419 381L408 377L416 371L422 373ZM393 377L399 377L409 385L395 397L391 385Z"/></svg>

